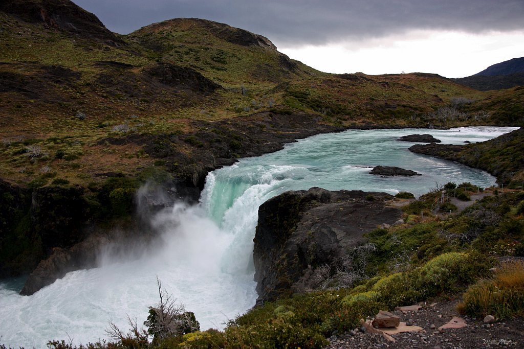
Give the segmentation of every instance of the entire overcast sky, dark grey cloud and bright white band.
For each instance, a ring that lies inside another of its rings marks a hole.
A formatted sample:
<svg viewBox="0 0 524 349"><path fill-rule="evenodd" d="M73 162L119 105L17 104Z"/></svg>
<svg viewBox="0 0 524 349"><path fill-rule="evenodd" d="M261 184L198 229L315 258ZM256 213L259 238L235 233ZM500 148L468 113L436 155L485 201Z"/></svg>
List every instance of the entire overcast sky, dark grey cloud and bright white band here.
<svg viewBox="0 0 524 349"><path fill-rule="evenodd" d="M223 22L331 73L468 76L524 56L524 0L73 0L127 34L171 18Z"/></svg>

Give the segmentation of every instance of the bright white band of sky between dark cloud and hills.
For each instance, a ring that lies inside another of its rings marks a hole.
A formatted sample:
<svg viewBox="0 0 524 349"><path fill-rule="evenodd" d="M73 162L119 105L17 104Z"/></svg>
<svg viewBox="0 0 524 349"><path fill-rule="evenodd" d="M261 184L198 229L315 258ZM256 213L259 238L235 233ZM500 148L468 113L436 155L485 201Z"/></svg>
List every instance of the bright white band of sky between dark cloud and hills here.
<svg viewBox="0 0 524 349"><path fill-rule="evenodd" d="M277 48L290 58L326 73L369 75L435 73L449 78L479 73L488 66L524 56L524 30L474 35L453 31L411 31L367 43Z"/></svg>

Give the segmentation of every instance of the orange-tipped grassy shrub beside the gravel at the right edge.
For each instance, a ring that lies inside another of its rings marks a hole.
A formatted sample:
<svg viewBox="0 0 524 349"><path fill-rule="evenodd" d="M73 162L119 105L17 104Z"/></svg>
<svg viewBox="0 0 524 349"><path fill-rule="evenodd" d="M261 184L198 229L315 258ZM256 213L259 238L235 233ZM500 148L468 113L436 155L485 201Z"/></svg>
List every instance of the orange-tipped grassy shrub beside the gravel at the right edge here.
<svg viewBox="0 0 524 349"><path fill-rule="evenodd" d="M505 319L524 313L524 261L501 265L493 279L470 286L458 306L462 314Z"/></svg>

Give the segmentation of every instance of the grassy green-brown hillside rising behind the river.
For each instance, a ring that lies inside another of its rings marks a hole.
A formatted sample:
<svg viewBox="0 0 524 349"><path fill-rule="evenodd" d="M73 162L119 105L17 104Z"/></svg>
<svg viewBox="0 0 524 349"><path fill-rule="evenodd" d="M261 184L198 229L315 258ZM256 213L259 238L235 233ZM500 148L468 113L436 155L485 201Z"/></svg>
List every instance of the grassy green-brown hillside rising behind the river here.
<svg viewBox="0 0 524 349"><path fill-rule="evenodd" d="M12 0L0 12L0 176L20 184L49 168L71 184L100 181L95 173L134 175L155 165L144 147L154 135L189 137L198 120L241 124L268 111L316 114L339 127L521 122L520 93L485 101L488 95L436 75L325 74L267 38L208 20L173 19L117 36L66 0L30 5L24 12ZM66 15L82 18L79 30L51 21ZM475 101L489 117L434 115L454 98ZM515 100L511 117L500 111L508 99ZM107 142L130 134L141 142ZM195 144L176 150L191 156Z"/></svg>

